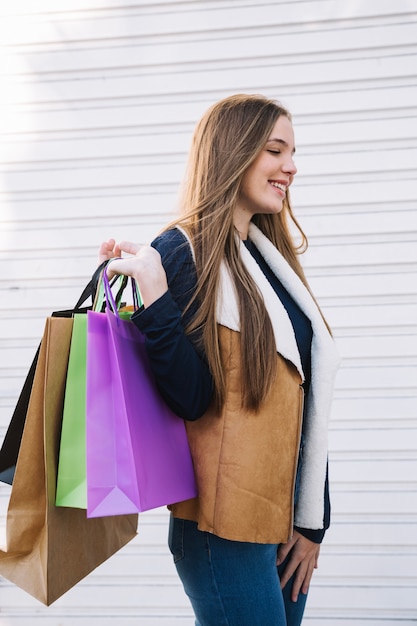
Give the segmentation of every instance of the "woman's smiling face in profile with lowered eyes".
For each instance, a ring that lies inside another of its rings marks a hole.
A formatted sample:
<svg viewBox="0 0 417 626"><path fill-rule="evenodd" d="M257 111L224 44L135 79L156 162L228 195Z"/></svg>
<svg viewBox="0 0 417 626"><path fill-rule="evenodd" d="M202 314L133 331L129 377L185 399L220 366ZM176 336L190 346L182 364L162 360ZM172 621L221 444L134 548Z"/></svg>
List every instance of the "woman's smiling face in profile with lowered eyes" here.
<svg viewBox="0 0 417 626"><path fill-rule="evenodd" d="M297 168L294 131L288 117L280 115L262 152L246 170L233 222L242 239L257 213L279 213Z"/></svg>

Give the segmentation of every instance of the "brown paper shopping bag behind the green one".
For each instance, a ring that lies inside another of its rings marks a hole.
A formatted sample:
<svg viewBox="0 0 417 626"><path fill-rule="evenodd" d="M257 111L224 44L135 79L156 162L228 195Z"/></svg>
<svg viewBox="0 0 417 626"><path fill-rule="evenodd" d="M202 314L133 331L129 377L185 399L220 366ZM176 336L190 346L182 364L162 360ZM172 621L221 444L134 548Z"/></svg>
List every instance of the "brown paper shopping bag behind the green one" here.
<svg viewBox="0 0 417 626"><path fill-rule="evenodd" d="M72 319L46 320L6 520L0 575L51 604L136 535L137 515L55 507Z"/></svg>

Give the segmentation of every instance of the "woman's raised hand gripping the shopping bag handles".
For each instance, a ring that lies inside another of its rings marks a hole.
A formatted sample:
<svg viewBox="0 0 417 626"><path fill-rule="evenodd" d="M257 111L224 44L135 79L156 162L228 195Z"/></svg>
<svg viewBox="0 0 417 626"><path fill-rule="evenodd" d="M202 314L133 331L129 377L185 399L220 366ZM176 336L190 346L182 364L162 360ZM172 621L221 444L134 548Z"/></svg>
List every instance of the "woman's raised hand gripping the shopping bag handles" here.
<svg viewBox="0 0 417 626"><path fill-rule="evenodd" d="M132 256L120 258L123 252ZM100 246L99 260L101 263L111 260L107 265L109 278L123 274L136 280L145 308L168 290L161 255L151 246L139 246L130 241L116 244L114 239L109 239Z"/></svg>

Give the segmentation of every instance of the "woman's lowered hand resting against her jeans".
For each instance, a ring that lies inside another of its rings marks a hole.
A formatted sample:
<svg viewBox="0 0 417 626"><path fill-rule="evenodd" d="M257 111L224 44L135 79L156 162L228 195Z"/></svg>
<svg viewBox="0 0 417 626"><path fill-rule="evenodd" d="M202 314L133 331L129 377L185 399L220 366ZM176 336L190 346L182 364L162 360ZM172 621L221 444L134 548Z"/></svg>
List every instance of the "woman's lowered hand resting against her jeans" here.
<svg viewBox="0 0 417 626"><path fill-rule="evenodd" d="M291 600L297 602L298 594L307 593L313 571L318 567L320 544L314 543L294 530L294 535L288 543L283 543L278 549L277 565L288 557L284 573L281 576L283 589L290 578L295 574L291 590Z"/></svg>

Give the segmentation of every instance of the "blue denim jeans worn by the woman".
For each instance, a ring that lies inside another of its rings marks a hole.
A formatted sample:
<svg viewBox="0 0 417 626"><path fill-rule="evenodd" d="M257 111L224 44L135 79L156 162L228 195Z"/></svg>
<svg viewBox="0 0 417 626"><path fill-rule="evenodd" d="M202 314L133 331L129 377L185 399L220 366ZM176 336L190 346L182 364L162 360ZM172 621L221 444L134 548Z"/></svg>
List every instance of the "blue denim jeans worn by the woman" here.
<svg viewBox="0 0 417 626"><path fill-rule="evenodd" d="M277 544L244 543L201 532L171 516L169 548L196 626L299 626L307 595L281 590Z"/></svg>

